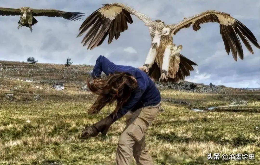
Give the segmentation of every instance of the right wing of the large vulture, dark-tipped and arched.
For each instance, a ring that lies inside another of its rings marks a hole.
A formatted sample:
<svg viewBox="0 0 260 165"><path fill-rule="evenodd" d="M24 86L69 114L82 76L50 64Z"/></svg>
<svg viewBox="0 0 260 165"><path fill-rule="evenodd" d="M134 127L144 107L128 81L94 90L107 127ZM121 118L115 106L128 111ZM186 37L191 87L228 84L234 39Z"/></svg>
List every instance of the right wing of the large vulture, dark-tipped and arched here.
<svg viewBox="0 0 260 165"><path fill-rule="evenodd" d="M226 52L229 54L230 49L233 58L237 61L237 54L240 59L244 58L243 49L239 40L245 44L246 48L254 54L254 51L248 42L248 39L257 48L260 49L254 34L241 22L233 18L228 13L223 13L215 10L208 10L195 16L185 18L183 21L170 25L173 29L172 33L175 35L180 29L190 27L192 25L193 30L197 31L200 29L200 24L207 22L218 22L220 27L220 34L224 41ZM238 37L239 36L239 37Z"/></svg>

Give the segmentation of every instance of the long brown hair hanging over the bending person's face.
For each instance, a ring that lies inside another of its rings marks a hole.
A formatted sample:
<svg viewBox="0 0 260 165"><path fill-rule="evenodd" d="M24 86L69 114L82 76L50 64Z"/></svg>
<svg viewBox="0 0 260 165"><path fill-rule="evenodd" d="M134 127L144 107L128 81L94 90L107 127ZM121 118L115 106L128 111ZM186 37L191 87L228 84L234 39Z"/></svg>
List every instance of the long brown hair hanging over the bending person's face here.
<svg viewBox="0 0 260 165"><path fill-rule="evenodd" d="M98 113L105 105L111 105L115 100L117 101L114 115L123 104L129 99L133 90L137 87L136 79L127 73L110 74L105 79L94 79L93 83L87 80L89 90L99 95L89 108L89 114Z"/></svg>

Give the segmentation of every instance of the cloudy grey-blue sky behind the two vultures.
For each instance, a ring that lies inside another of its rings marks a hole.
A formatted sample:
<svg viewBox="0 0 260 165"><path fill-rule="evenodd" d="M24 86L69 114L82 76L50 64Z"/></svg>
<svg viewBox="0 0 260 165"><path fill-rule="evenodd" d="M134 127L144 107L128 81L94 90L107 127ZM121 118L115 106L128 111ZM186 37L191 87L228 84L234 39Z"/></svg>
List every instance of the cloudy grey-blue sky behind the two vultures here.
<svg viewBox="0 0 260 165"><path fill-rule="evenodd" d="M1 7L20 8L29 6L40 9L59 9L63 11L82 11L85 18L101 7L101 4L115 1L20 1L1 0ZM205 10L218 10L230 13L245 24L260 41L260 1L221 0L221 1L126 1L125 3L140 11L152 20L161 19L166 24L177 23ZM82 21L72 22L63 18L37 17L38 23L31 33L28 28L17 30L19 16L0 16L0 60L26 61L35 57L40 63L64 64L67 57L73 64L94 65L99 55L104 55L115 64L142 66L151 45L148 28L132 16L134 23L121 33L118 40L107 45L107 40L95 48L87 50L81 45L83 37L76 38ZM196 71L186 80L229 87L260 87L260 49L252 45L255 52L250 54L243 45L244 60L233 60L228 56L219 33L219 24L201 25L197 32L192 28L183 29L173 36L177 45L183 45L181 53L198 64Z"/></svg>

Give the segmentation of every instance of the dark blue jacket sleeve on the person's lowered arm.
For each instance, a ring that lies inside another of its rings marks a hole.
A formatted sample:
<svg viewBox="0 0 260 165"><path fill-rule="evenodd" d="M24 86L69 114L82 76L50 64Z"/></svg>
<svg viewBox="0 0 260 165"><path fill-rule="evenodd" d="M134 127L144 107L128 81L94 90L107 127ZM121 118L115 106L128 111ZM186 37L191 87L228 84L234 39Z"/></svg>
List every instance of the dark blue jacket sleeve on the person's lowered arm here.
<svg viewBox="0 0 260 165"><path fill-rule="evenodd" d="M115 120L120 119L123 115L125 115L128 111L131 111L135 105L140 101L145 90L141 90L139 87L131 94L130 98L127 102L119 109Z"/></svg>

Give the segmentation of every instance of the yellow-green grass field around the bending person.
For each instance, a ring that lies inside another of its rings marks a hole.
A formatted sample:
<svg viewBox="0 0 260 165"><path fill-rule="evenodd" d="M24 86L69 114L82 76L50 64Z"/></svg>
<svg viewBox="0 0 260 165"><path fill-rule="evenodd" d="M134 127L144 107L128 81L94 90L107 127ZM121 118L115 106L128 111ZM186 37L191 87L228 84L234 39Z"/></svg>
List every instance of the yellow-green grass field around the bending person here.
<svg viewBox="0 0 260 165"><path fill-rule="evenodd" d="M105 107L100 114L87 114L95 96L81 87L90 66L0 63L0 164L114 164L124 118L107 136L79 138L85 125L113 111ZM56 91L55 82L63 82L65 89ZM190 104L162 102L164 111L146 137L156 164L260 164L260 91L206 94L164 89L161 95ZM248 104L191 110L242 100ZM207 153L255 154L255 160L207 160Z"/></svg>

